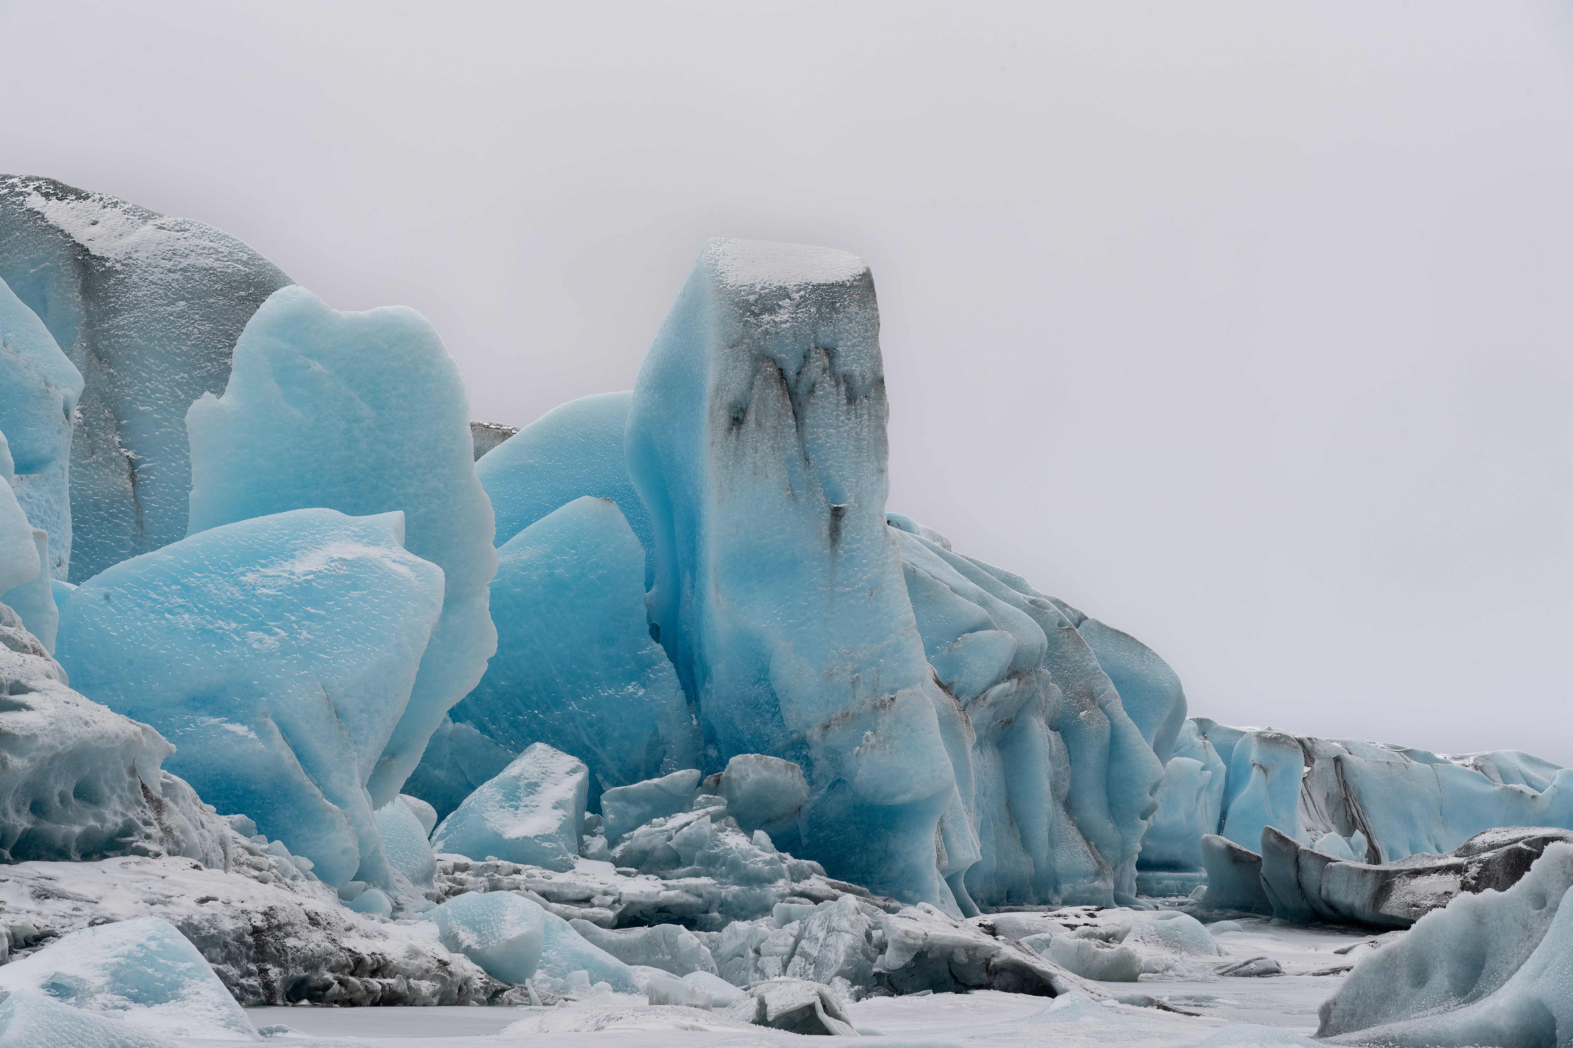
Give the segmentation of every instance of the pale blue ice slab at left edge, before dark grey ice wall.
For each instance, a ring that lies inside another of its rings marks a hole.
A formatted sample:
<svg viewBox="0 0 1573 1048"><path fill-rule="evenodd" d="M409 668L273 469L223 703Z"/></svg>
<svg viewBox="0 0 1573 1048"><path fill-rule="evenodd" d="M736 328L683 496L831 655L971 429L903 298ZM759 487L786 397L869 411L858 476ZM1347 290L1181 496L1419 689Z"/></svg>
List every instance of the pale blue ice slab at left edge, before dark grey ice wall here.
<svg viewBox="0 0 1573 1048"><path fill-rule="evenodd" d="M50 578L71 561L71 420L82 372L0 280L0 432L9 434L11 486L35 528L49 533Z"/></svg>

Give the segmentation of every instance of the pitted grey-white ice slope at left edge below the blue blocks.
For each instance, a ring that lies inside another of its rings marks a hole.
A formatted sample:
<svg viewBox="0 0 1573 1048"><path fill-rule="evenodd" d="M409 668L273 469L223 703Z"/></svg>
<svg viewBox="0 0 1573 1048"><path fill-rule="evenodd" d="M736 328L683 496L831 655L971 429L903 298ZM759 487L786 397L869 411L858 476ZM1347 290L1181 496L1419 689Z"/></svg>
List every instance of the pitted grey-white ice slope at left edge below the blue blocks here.
<svg viewBox="0 0 1573 1048"><path fill-rule="evenodd" d="M160 760L151 727L64 685L0 605L0 859L182 855L227 864L228 830Z"/></svg>

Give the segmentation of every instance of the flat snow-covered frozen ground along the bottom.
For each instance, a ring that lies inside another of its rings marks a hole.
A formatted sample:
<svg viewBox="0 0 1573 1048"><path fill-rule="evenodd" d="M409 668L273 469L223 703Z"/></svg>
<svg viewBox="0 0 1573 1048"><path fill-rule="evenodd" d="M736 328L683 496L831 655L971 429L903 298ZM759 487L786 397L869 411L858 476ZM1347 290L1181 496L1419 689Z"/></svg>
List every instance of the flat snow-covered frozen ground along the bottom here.
<svg viewBox="0 0 1573 1048"><path fill-rule="evenodd" d="M1048 998L983 990L958 995L870 998L849 1006L862 1031L878 1031L873 1045L1195 1045L1232 1023L1276 1026L1309 1037L1317 1029L1317 1007L1342 976L1313 976L1339 968L1335 949L1369 940L1353 932L1315 930L1241 921L1243 932L1219 936L1230 958L1266 955L1284 976L1258 979L1170 979L1145 974L1139 984L1106 982L1111 995L1145 993L1180 1015L1126 1004L1054 1007ZM1084 1013L1089 1017L1082 1018ZM719 1013L683 1007L650 1007L640 998L604 995L554 1009L505 1007L260 1007L247 1009L261 1029L289 1026L297 1034L269 1042L305 1046L316 1039L351 1045L396 1048L469 1048L530 1045L532 1048L658 1048L665 1045L785 1045L796 1034L733 1024ZM181 1042L197 1048L233 1042Z"/></svg>

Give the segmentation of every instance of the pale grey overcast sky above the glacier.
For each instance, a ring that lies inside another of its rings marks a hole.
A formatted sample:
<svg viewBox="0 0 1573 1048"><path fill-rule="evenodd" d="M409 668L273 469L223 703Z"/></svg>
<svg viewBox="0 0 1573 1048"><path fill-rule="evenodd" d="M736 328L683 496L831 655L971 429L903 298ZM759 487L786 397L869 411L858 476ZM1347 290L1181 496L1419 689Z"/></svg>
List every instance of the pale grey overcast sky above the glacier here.
<svg viewBox="0 0 1573 1048"><path fill-rule="evenodd" d="M1568 3L0 0L0 170L632 385L700 244L873 267L890 506L1194 715L1573 764Z"/></svg>

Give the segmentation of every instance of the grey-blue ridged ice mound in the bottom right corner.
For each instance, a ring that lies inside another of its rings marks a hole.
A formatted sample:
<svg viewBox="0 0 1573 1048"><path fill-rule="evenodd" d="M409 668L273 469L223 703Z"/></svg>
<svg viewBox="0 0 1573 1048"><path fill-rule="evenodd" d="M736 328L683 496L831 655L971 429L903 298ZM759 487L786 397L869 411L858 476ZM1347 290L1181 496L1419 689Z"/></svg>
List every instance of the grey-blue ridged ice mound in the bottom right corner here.
<svg viewBox="0 0 1573 1048"><path fill-rule="evenodd" d="M1573 1042L1573 845L1504 892L1460 896L1362 957L1318 1037L1453 1048Z"/></svg>

